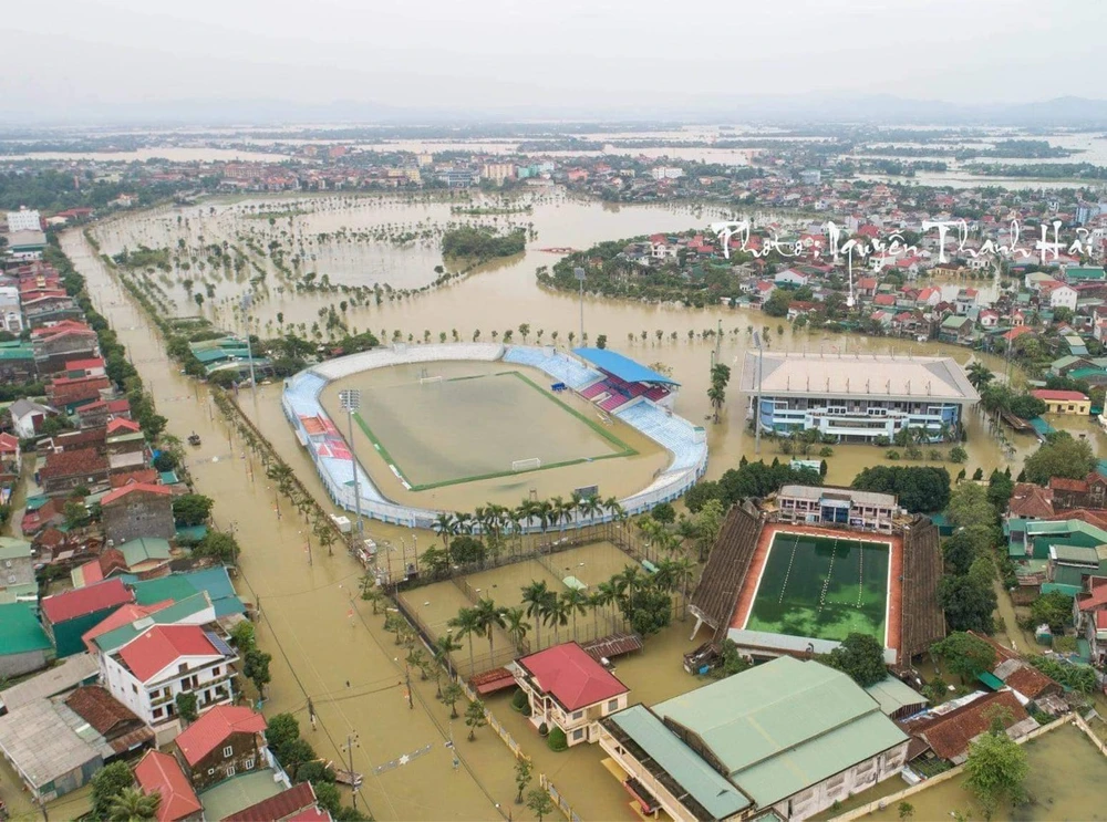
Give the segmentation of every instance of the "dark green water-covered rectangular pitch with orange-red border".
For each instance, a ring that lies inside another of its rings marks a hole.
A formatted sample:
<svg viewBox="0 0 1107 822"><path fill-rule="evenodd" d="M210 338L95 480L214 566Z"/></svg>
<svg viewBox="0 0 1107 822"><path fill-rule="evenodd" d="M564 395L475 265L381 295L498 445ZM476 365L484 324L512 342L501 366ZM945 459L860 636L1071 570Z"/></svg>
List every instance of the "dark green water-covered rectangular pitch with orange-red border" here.
<svg viewBox="0 0 1107 822"><path fill-rule="evenodd" d="M779 531L757 584L747 631L884 645L890 545Z"/></svg>

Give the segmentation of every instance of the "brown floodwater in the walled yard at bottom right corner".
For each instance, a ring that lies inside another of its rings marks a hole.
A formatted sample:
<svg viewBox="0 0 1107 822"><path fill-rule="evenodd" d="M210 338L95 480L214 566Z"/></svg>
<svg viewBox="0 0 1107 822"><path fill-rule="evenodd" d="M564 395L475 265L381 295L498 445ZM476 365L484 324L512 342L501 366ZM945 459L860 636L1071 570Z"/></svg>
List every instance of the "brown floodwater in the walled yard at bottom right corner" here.
<svg viewBox="0 0 1107 822"><path fill-rule="evenodd" d="M1076 727L1064 725L1025 743L1030 761L1026 791L1030 803L1001 808L992 816L996 822L1037 822L1038 820L1107 819L1101 788L1107 780L1107 758ZM915 820L949 819L953 812L972 813L982 819L972 795L961 787L962 779L920 791L907 799L914 805ZM899 802L891 801L882 811L862 819L892 822L898 820Z"/></svg>

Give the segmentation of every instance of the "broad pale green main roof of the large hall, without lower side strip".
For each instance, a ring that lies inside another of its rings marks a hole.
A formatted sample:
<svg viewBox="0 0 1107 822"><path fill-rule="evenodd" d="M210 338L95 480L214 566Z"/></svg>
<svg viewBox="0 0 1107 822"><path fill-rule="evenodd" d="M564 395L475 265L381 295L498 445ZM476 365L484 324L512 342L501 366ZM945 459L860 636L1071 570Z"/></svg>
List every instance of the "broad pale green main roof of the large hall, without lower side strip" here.
<svg viewBox="0 0 1107 822"><path fill-rule="evenodd" d="M787 656L654 712L697 733L762 808L907 739L848 676Z"/></svg>

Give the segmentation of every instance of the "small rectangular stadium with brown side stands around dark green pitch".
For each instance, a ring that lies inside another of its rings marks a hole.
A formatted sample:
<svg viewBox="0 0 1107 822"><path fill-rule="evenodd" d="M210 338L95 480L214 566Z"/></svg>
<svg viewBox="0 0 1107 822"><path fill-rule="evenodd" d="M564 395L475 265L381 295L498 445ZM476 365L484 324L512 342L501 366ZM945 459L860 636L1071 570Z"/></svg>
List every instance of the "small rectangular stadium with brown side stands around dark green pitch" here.
<svg viewBox="0 0 1107 822"><path fill-rule="evenodd" d="M780 502L804 491L828 504L796 517ZM869 527L835 520L846 489L786 486L759 509L735 506L712 548L690 611L696 632L733 641L754 657L831 651L851 633L868 634L890 665L909 665L945 635L938 605L942 555L938 529L898 514ZM865 508L872 500L863 495ZM894 504L894 498L890 498ZM830 513L825 513L830 511Z"/></svg>

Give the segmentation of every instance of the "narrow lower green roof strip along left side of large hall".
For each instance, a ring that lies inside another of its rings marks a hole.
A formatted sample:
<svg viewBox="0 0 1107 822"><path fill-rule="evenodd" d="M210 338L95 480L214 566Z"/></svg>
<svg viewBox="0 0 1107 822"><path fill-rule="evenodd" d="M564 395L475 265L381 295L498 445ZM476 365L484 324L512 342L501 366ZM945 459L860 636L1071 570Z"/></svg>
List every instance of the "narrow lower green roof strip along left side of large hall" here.
<svg viewBox="0 0 1107 822"><path fill-rule="evenodd" d="M715 819L727 819L749 807L749 800L664 724L641 705L621 710L611 720L680 782Z"/></svg>

